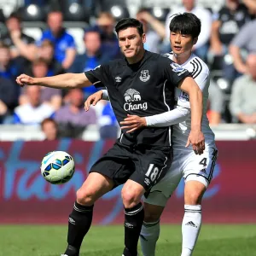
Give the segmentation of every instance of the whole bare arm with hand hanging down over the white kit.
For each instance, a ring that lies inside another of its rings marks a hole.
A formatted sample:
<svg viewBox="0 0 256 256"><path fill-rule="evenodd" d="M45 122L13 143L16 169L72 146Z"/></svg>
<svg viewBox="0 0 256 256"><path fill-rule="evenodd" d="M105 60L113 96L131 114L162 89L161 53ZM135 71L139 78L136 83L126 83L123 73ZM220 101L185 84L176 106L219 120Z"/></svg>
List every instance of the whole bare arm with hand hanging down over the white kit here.
<svg viewBox="0 0 256 256"><path fill-rule="evenodd" d="M205 138L201 132L202 92L191 77L183 79L179 84L179 88L189 95L191 109L191 131L186 147L191 144L196 154L202 154L205 149Z"/></svg>

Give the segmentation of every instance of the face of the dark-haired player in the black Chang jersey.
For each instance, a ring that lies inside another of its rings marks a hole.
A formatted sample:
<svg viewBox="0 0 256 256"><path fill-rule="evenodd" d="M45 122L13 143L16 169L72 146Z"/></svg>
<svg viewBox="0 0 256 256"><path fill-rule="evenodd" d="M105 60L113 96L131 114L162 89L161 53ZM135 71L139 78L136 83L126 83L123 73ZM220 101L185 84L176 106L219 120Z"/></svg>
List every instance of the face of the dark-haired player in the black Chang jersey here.
<svg viewBox="0 0 256 256"><path fill-rule="evenodd" d="M136 27L128 27L119 31L119 46L127 59L136 58L143 51L145 42L145 34L140 36Z"/></svg>

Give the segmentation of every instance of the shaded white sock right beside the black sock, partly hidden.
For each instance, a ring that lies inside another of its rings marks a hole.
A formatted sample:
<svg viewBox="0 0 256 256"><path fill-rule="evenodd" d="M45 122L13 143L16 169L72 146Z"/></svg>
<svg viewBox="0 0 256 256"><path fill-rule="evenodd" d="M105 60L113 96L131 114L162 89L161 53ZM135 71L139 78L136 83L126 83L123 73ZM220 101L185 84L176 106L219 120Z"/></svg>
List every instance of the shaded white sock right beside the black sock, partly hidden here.
<svg viewBox="0 0 256 256"><path fill-rule="evenodd" d="M160 219L156 222L143 222L140 241L143 256L154 256L156 241L160 235Z"/></svg>

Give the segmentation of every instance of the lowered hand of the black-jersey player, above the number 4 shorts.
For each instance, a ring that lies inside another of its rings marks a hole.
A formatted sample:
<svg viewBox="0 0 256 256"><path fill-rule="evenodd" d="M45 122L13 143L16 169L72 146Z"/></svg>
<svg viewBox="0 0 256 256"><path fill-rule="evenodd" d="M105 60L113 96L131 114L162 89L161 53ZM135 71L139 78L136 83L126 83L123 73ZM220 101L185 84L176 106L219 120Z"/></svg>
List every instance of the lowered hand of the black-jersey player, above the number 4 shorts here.
<svg viewBox="0 0 256 256"><path fill-rule="evenodd" d="M203 154L205 150L205 137L201 131L190 131L186 148L192 145L195 154Z"/></svg>

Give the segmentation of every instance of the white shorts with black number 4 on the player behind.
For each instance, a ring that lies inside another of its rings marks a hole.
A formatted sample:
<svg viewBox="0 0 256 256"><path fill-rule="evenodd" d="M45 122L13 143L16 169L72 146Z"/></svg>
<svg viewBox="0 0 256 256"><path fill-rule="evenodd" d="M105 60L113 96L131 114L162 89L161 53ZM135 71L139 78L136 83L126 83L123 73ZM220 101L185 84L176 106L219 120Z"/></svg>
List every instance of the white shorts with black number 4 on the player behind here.
<svg viewBox="0 0 256 256"><path fill-rule="evenodd" d="M207 148L201 155L195 154L194 151L189 153L174 152L171 168L166 176L150 189L144 202L165 207L182 177L185 183L195 180L203 183L207 188L212 180L217 155L218 150L216 148Z"/></svg>

